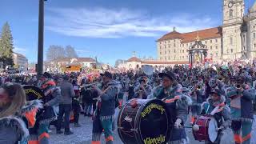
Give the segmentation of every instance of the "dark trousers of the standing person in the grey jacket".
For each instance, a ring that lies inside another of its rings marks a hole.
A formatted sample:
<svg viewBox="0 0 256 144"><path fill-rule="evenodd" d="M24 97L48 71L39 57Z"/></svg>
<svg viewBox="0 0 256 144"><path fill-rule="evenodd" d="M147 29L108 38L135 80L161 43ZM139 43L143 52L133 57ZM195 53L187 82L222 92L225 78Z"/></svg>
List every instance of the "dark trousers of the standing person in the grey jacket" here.
<svg viewBox="0 0 256 144"><path fill-rule="evenodd" d="M62 128L62 118L64 115L64 128L66 132L70 131L70 112L72 110L72 105L59 105L59 113L58 113L58 126L57 130L61 130Z"/></svg>

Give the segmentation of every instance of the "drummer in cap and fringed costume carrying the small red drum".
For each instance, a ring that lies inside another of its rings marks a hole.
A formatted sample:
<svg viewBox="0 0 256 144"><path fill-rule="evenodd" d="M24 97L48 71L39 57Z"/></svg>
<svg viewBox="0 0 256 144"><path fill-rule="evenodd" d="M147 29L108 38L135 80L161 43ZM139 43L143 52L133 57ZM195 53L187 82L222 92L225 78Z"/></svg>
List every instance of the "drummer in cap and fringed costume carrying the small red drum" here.
<svg viewBox="0 0 256 144"><path fill-rule="evenodd" d="M226 98L222 96L218 89L213 89L210 91L210 98L206 102L202 103L201 114L211 114L213 113L214 118L218 122L218 138L214 142L216 144L221 143L222 130L228 128L231 124L230 120L230 108L225 104ZM214 112L213 112L214 111ZM222 119L224 122L222 122ZM212 142L206 142L212 143Z"/></svg>

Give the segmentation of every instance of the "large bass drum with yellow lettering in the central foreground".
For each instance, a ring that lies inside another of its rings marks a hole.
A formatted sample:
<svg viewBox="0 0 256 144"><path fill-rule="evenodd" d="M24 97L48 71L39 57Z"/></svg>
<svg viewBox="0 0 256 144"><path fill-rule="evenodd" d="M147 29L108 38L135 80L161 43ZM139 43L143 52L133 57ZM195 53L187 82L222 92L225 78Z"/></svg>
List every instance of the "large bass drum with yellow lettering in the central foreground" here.
<svg viewBox="0 0 256 144"><path fill-rule="evenodd" d="M118 114L118 134L125 144L166 143L170 114L158 99L132 99Z"/></svg>

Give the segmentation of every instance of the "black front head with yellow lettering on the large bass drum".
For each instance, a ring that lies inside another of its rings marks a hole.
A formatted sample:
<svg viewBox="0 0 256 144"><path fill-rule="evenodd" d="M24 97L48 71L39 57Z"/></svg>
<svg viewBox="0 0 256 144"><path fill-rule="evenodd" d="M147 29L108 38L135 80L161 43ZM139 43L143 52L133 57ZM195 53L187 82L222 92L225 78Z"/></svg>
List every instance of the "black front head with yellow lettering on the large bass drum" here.
<svg viewBox="0 0 256 144"><path fill-rule="evenodd" d="M144 103L138 122L142 143L166 143L170 138L169 113L158 99Z"/></svg>

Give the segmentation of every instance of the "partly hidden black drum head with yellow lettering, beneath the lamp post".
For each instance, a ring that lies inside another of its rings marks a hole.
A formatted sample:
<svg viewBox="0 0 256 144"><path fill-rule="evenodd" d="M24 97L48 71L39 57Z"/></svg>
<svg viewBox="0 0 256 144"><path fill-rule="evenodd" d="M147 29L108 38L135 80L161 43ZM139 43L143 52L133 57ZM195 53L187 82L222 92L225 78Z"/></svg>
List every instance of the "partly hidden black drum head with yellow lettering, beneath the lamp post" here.
<svg viewBox="0 0 256 144"><path fill-rule="evenodd" d="M42 99L44 97L42 90L40 90L37 86L23 86L23 90L25 91L27 101Z"/></svg>

